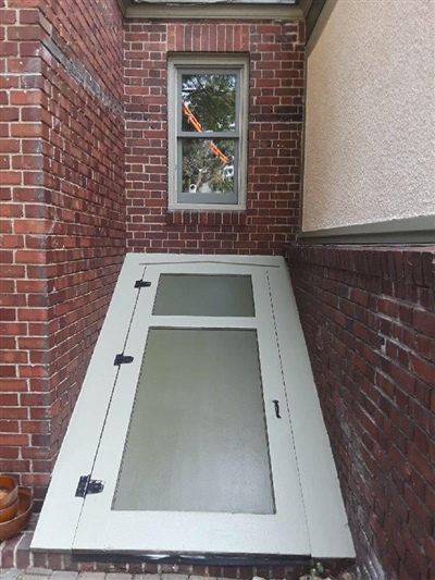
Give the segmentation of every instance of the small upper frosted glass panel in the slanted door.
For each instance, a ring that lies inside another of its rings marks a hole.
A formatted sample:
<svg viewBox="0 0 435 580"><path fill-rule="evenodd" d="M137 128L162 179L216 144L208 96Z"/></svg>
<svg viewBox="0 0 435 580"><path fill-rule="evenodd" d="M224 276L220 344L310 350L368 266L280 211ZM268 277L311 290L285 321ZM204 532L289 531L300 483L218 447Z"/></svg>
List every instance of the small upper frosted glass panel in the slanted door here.
<svg viewBox="0 0 435 580"><path fill-rule="evenodd" d="M154 316L253 317L250 275L162 274Z"/></svg>

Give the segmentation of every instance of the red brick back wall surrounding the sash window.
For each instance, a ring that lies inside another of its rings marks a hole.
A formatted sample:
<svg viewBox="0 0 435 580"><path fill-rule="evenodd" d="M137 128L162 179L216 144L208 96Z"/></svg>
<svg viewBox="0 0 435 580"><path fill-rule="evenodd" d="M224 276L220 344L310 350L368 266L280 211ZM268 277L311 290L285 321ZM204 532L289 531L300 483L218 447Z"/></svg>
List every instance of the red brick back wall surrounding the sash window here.
<svg viewBox="0 0 435 580"><path fill-rule="evenodd" d="M126 23L127 245L281 254L299 222L303 24ZM167 52L249 53L246 212L167 212Z"/></svg>

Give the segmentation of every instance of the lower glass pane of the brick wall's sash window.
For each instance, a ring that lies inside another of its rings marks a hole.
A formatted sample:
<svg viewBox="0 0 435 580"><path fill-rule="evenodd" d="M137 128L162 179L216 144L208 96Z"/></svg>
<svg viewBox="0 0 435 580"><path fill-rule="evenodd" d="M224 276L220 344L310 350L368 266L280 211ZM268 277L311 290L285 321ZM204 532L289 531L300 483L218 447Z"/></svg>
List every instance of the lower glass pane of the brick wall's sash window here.
<svg viewBox="0 0 435 580"><path fill-rule="evenodd" d="M233 194L235 139L182 139L182 187L188 194Z"/></svg>

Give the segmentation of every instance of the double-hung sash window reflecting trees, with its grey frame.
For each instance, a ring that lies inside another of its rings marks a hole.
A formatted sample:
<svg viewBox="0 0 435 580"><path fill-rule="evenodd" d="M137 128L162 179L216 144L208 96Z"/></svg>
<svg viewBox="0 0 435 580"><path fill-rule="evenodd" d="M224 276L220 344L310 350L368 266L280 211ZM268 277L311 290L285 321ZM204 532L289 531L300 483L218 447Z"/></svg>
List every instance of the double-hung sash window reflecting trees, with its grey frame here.
<svg viewBox="0 0 435 580"><path fill-rule="evenodd" d="M245 209L247 71L245 58L170 59L170 209Z"/></svg>

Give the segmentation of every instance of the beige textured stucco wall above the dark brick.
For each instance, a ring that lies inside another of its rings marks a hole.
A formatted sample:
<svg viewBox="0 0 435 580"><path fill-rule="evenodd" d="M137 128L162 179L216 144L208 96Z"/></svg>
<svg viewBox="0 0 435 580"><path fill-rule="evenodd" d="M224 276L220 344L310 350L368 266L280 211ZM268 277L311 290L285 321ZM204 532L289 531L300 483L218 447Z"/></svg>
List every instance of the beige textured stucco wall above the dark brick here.
<svg viewBox="0 0 435 580"><path fill-rule="evenodd" d="M335 4L308 55L303 231L435 214L434 23L434 0Z"/></svg>

